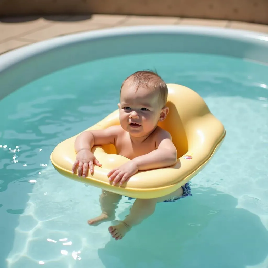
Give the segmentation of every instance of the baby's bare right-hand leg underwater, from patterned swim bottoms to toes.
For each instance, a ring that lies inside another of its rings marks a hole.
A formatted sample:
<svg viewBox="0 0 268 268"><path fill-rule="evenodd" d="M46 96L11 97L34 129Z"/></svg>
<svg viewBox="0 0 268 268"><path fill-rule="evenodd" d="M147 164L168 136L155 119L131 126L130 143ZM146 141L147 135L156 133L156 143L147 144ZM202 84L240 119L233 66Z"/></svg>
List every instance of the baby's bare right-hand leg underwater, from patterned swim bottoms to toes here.
<svg viewBox="0 0 268 268"><path fill-rule="evenodd" d="M132 226L140 224L144 219L151 216L155 211L155 205L158 202L172 199L173 197L183 195L183 189L179 188L173 193L153 199L136 199L129 215L126 216L124 221L121 221L115 226L109 227L109 232L116 240L122 237L131 229Z"/></svg>

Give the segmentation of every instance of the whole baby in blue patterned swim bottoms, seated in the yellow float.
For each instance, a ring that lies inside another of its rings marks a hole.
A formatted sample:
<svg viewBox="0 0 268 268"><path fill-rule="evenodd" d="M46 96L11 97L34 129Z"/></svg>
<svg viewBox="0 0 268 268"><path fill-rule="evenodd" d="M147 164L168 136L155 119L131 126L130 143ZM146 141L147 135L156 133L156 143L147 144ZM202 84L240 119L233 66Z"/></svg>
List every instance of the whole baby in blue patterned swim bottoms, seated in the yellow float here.
<svg viewBox="0 0 268 268"><path fill-rule="evenodd" d="M113 185L124 182L140 170L172 166L177 161L177 150L169 132L157 124L165 120L169 108L166 106L168 87L156 73L139 71L123 82L120 92L120 125L103 130L85 131L77 136L76 161L73 172L87 176L88 170L94 172L94 164L101 163L91 152L94 145L114 144L117 154L129 161L111 170L107 176ZM185 184L175 192L154 199L136 199L129 215L119 224L108 228L116 240L122 239L132 226L139 224L154 213L157 202L172 202L191 195L190 187ZM101 215L90 219L88 224L111 221L121 195L102 190L100 196ZM129 200L132 198L129 198Z"/></svg>

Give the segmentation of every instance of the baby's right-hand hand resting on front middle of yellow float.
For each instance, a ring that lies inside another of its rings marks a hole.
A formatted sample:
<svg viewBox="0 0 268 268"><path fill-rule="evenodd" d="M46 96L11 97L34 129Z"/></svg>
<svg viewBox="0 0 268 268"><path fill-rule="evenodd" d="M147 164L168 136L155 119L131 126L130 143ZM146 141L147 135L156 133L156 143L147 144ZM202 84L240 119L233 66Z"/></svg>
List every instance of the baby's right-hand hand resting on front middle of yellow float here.
<svg viewBox="0 0 268 268"><path fill-rule="evenodd" d="M119 168L112 169L107 175L109 181L113 181L113 185L116 185L120 181L119 186L121 186L130 176L134 175L139 171L136 163L133 161L128 161Z"/></svg>

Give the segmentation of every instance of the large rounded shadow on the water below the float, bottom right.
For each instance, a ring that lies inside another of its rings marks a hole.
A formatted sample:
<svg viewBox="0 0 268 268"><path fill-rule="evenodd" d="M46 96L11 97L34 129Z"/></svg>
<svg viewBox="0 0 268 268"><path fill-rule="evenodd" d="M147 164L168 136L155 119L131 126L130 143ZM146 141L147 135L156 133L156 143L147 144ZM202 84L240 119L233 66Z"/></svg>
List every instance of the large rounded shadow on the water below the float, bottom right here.
<svg viewBox="0 0 268 268"><path fill-rule="evenodd" d="M179 202L158 204L123 240L100 248L103 265L244 268L266 258L267 230L258 216L236 208L232 196L208 188Z"/></svg>

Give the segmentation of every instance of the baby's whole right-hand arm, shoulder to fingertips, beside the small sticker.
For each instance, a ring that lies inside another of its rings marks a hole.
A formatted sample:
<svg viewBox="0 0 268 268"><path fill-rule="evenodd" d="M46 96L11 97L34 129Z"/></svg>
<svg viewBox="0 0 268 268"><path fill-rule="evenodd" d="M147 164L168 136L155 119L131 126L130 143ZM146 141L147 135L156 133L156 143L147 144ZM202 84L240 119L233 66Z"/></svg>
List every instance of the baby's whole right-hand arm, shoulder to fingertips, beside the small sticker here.
<svg viewBox="0 0 268 268"><path fill-rule="evenodd" d="M108 173L108 176L110 176L109 181L113 181L113 185L120 182L119 185L121 186L130 176L139 170L165 168L174 165L177 162L177 150L169 132L162 130L155 142L156 150L135 157L119 168L111 170Z"/></svg>

